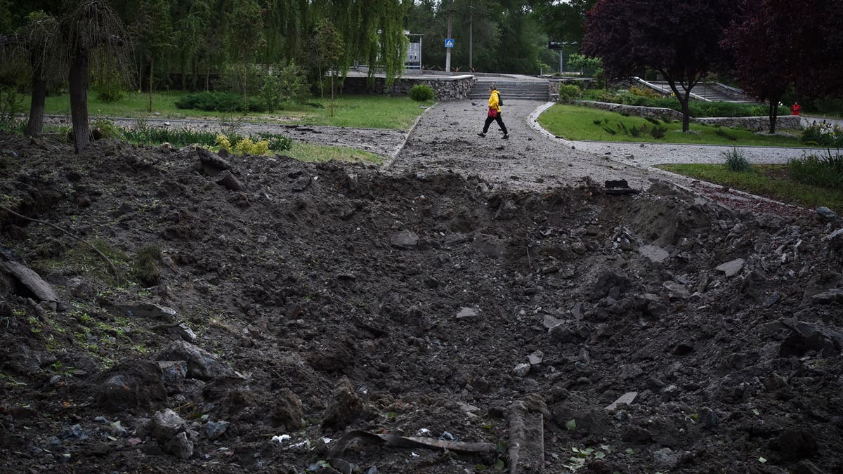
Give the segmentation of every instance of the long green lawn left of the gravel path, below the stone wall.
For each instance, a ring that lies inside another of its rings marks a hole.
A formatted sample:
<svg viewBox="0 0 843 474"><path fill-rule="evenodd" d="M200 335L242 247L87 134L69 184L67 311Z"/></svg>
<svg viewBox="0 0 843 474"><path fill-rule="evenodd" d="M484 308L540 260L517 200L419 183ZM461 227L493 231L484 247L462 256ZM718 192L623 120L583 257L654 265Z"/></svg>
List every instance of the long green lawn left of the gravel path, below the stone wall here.
<svg viewBox="0 0 843 474"><path fill-rule="evenodd" d="M147 117L147 118L211 118L233 120L242 114L220 114L202 110L182 110L175 101L185 92L160 92L153 94L153 113L148 112L148 96L145 93L130 92L122 100L102 102L96 94L88 97L88 110L92 116ZM263 121L284 124L324 125L330 127L384 128L407 130L424 109L409 97L386 97L376 95L342 95L334 101L334 114L330 113L330 99L312 99L307 104L288 104L272 113L250 113L248 121ZM70 98L67 94L46 98L47 114L70 114ZM155 115L158 112L159 115ZM376 112L376 113L375 113Z"/></svg>

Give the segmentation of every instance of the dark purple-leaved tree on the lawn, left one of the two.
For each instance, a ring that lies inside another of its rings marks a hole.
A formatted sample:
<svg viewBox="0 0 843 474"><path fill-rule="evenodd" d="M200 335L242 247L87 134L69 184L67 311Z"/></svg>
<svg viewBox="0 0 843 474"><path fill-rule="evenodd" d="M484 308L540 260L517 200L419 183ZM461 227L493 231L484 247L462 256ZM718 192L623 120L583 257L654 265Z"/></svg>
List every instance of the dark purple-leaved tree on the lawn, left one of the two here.
<svg viewBox="0 0 843 474"><path fill-rule="evenodd" d="M600 0L586 19L583 51L603 60L607 77L646 67L661 73L687 132L691 89L726 61L720 41L732 18L729 0Z"/></svg>

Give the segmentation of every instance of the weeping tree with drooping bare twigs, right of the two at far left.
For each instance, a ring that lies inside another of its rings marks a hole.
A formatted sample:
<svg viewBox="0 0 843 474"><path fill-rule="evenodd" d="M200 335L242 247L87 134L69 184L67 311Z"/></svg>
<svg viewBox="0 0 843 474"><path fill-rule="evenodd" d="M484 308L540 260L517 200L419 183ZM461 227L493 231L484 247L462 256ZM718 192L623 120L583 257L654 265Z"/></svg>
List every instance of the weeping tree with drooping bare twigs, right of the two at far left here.
<svg viewBox="0 0 843 474"><path fill-rule="evenodd" d="M127 57L126 28L117 13L99 0L85 0L61 21L62 54L67 65L70 119L76 153L91 143L88 121L88 87L91 71L107 73ZM92 61L93 59L93 61ZM131 68L122 68L131 70Z"/></svg>

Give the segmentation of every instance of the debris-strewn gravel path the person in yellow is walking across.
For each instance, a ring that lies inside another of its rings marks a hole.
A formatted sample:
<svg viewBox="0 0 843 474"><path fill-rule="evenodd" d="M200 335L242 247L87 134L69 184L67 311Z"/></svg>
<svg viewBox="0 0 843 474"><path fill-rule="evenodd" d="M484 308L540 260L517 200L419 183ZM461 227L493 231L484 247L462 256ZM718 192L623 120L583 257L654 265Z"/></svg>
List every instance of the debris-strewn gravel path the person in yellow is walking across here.
<svg viewBox="0 0 843 474"><path fill-rule="evenodd" d="M659 175L655 170L587 153L548 137L531 125L543 104L507 100L503 121L510 139L503 140L494 122L486 137L476 135L486 119L485 101L439 103L421 116L405 147L387 168L394 173L418 174L454 170L522 189L575 185L586 176L599 183L625 179L631 187L641 189Z"/></svg>

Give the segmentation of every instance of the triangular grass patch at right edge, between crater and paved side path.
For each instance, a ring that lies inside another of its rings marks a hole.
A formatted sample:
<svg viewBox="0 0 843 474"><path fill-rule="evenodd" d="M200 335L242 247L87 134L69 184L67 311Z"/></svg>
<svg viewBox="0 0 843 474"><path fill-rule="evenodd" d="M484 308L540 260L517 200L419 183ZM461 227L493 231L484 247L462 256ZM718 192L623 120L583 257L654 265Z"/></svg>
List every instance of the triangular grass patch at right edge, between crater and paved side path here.
<svg viewBox="0 0 843 474"><path fill-rule="evenodd" d="M729 170L725 164L662 164L657 168L788 204L825 206L843 213L843 189L793 180L787 164L753 164L752 170L743 172Z"/></svg>

